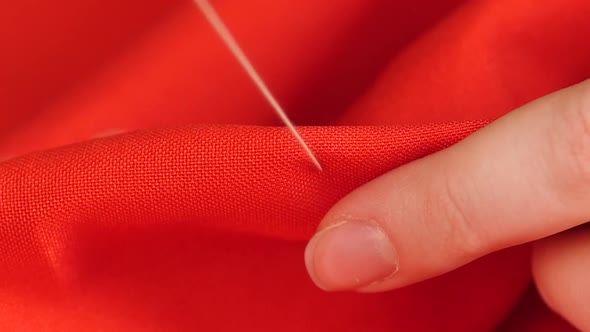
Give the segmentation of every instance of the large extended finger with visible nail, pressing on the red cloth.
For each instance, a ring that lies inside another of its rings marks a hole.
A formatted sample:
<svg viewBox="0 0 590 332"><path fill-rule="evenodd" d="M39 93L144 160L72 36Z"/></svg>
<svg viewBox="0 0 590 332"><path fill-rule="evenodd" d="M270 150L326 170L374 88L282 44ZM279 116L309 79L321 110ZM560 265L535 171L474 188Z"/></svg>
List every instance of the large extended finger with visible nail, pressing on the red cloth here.
<svg viewBox="0 0 590 332"><path fill-rule="evenodd" d="M340 263L330 260L347 252L342 246L355 239L338 241L333 233L337 227L330 236L322 234L330 238L332 247L315 238L311 241L306 264L312 279L326 290L394 289L584 223L590 219L589 202L590 82L586 81L369 182L331 209L320 233L343 222L376 225L391 242L376 247L394 248L398 260L391 264L394 275L384 273L383 266L379 274L371 274L367 264L358 275L342 273L354 266L339 268ZM350 237L354 233L347 227ZM356 252L358 257L351 256L349 265L369 260L368 253Z"/></svg>

